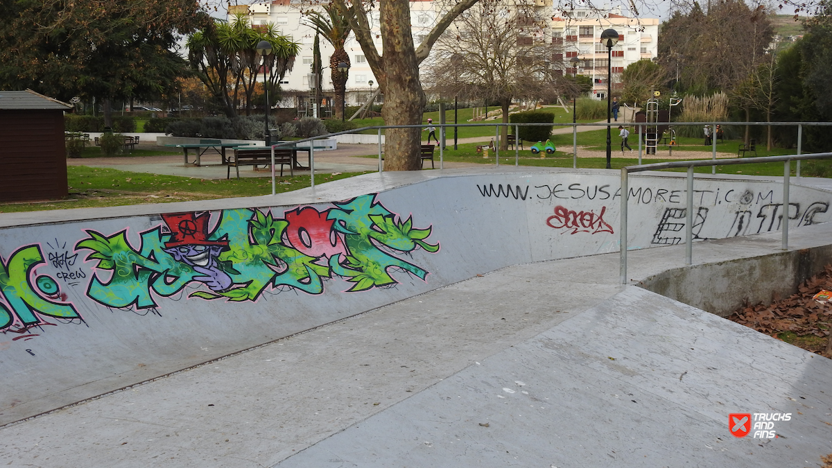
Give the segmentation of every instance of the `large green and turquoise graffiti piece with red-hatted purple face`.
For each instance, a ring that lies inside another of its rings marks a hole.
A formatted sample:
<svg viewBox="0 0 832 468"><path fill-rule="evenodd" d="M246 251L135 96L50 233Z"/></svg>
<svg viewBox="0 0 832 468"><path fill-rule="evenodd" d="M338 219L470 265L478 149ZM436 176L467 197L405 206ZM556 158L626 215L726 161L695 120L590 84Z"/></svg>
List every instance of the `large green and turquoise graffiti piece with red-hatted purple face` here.
<svg viewBox="0 0 832 468"><path fill-rule="evenodd" d="M417 229L412 219L389 212L374 195L333 203L324 211L302 207L275 217L257 209L224 210L211 215L162 215L163 223L141 232L131 246L126 230L107 236L87 230L77 250L97 261L87 296L110 307L157 307L155 296L172 296L186 287L188 297L256 301L267 289L286 288L321 294L333 276L352 283L348 291L394 286L394 271L425 280L428 271L400 258L421 248L431 227Z"/></svg>

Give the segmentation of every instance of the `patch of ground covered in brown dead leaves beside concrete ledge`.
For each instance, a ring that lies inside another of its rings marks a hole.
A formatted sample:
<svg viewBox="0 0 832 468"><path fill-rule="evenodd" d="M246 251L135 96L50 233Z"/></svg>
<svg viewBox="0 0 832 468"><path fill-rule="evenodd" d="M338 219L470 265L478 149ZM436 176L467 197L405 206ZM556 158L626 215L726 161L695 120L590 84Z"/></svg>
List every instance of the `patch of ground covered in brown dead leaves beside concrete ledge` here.
<svg viewBox="0 0 832 468"><path fill-rule="evenodd" d="M775 300L769 306L743 306L728 319L806 351L832 357L825 355L832 329L832 304L820 304L812 298L821 290L832 291L830 265L804 281L795 294Z"/></svg>

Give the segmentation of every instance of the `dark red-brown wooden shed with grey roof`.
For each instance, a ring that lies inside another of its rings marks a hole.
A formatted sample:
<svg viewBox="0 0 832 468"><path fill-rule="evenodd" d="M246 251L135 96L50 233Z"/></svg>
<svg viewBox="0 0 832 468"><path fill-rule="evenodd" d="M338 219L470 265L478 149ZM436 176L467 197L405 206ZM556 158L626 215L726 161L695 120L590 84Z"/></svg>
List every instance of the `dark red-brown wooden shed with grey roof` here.
<svg viewBox="0 0 832 468"><path fill-rule="evenodd" d="M67 197L63 113L32 90L0 91L0 202Z"/></svg>

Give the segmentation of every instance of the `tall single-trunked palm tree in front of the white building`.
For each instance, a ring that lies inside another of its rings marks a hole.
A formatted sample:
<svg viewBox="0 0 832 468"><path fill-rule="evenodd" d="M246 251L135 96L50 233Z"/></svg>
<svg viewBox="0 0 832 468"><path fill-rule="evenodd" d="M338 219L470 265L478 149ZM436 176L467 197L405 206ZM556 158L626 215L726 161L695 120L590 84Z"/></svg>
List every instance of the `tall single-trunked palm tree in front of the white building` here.
<svg viewBox="0 0 832 468"><path fill-rule="evenodd" d="M352 12L352 10L349 10ZM332 3L324 7L326 15L320 12L310 13L310 26L318 30L324 36L335 52L329 57L329 69L332 74L332 86L335 88L335 102L344 102L344 95L346 94L347 78L349 77L349 70L340 72L338 64L344 62L349 68L349 54L344 50L344 43L347 42L349 33L352 32L352 27L349 26L349 17L342 16L338 9ZM344 107L336 106L336 117L344 117Z"/></svg>

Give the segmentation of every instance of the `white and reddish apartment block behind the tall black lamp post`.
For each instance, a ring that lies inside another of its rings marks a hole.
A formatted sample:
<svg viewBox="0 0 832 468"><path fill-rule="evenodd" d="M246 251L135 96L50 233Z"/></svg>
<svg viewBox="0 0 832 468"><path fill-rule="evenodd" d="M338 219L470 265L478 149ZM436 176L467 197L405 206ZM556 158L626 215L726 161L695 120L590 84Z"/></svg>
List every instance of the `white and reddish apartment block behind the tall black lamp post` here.
<svg viewBox="0 0 832 468"><path fill-rule="evenodd" d="M569 15L555 12L552 17L552 42L562 45L562 59L567 74L580 73L592 77L592 95L596 99L607 98L607 47L601 43L605 29L618 32L618 43L612 47L613 94L621 83L617 74L632 62L652 60L658 50L659 20L656 18L632 18L621 14L621 8L613 8L606 14L589 9L577 9ZM572 67L572 57L584 60L581 67Z"/></svg>

